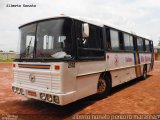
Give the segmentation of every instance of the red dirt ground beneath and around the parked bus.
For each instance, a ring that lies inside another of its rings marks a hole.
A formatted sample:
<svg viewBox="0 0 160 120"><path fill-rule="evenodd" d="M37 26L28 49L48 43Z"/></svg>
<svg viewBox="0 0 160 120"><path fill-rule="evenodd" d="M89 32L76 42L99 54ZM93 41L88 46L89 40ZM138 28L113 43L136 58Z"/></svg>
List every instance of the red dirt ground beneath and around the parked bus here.
<svg viewBox="0 0 160 120"><path fill-rule="evenodd" d="M0 63L0 114L28 119L72 119L80 114L160 114L160 62L146 80L136 79L112 89L109 97L93 96L67 106L27 99L11 90L12 63ZM0 117L0 119L1 119Z"/></svg>

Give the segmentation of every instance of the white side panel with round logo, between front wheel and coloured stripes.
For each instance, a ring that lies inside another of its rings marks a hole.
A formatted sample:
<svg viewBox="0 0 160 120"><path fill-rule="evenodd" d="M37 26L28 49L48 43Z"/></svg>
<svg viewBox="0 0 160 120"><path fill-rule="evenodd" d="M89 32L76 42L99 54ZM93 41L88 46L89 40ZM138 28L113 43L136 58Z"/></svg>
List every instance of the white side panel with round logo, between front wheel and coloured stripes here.
<svg viewBox="0 0 160 120"><path fill-rule="evenodd" d="M110 71L112 76L112 87L136 78L133 52L107 52L106 63L106 70Z"/></svg>

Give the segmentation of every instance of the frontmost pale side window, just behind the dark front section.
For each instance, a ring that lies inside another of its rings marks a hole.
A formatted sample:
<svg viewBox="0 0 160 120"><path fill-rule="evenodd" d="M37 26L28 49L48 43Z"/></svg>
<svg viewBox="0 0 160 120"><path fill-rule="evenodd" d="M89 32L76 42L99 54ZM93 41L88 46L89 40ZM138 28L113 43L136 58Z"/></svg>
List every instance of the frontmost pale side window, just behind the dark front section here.
<svg viewBox="0 0 160 120"><path fill-rule="evenodd" d="M110 40L111 40L111 47L112 50L119 50L120 49L120 42L119 42L119 33L116 30L110 30Z"/></svg>

